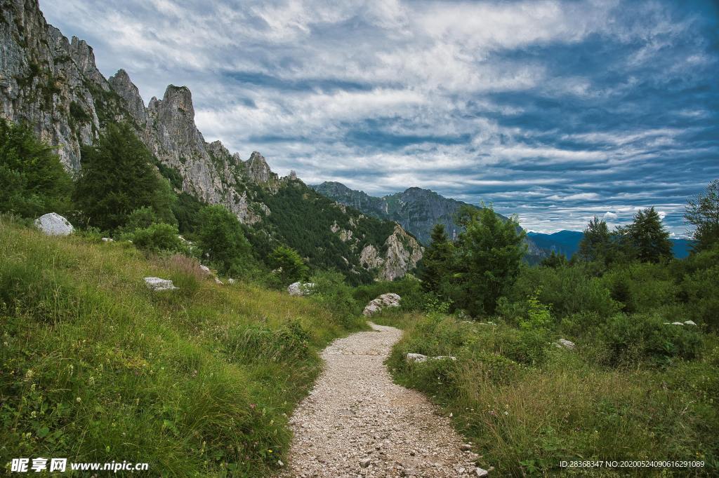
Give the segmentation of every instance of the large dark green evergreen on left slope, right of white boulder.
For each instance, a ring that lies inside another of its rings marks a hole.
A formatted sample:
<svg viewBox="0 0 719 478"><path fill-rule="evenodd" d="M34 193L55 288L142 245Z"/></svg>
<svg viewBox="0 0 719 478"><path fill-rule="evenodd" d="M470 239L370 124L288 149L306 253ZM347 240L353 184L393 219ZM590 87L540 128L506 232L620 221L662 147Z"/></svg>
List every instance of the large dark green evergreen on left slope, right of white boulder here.
<svg viewBox="0 0 719 478"><path fill-rule="evenodd" d="M88 225L114 230L143 206L152 207L162 222L175 222L172 188L127 123L109 123L95 146L83 148L81 165L74 198Z"/></svg>

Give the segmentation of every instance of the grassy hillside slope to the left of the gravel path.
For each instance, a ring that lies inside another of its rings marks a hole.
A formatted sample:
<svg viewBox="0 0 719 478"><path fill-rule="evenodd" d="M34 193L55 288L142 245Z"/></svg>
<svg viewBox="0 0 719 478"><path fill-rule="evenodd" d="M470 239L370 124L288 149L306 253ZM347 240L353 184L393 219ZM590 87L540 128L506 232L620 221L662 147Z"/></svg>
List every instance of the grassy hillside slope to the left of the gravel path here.
<svg viewBox="0 0 719 478"><path fill-rule="evenodd" d="M180 289L153 293L145 276ZM0 218L0 463L137 461L150 475L261 477L318 351L365 327L310 299L218 286L182 257L46 237Z"/></svg>

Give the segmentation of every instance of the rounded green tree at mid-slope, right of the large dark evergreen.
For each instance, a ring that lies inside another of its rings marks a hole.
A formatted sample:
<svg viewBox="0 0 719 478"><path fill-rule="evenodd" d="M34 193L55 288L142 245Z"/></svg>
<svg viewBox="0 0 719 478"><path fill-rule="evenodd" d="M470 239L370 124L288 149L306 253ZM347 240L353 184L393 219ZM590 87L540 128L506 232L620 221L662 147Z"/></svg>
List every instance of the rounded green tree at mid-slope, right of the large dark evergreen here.
<svg viewBox="0 0 719 478"><path fill-rule="evenodd" d="M232 212L221 205L205 206L198 222L196 243L201 257L220 273L238 277L257 268L251 246Z"/></svg>

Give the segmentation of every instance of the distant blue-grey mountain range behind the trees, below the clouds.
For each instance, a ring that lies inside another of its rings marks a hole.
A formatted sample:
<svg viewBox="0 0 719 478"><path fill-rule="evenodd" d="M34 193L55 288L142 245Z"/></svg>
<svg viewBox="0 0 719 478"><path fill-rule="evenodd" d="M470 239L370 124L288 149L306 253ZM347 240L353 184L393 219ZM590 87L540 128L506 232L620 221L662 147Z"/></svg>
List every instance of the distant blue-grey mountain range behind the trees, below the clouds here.
<svg viewBox="0 0 719 478"><path fill-rule="evenodd" d="M424 245L429 244L431 230L435 224L444 225L450 238L456 237L462 231L462 227L454 221L457 211L462 206L476 207L419 187L411 187L404 192L383 197L349 189L340 182L323 182L311 187L336 202L355 207L380 219L398 222ZM507 219L502 215L500 217ZM531 238L528 238L527 245L527 254L531 261L546 255Z"/></svg>

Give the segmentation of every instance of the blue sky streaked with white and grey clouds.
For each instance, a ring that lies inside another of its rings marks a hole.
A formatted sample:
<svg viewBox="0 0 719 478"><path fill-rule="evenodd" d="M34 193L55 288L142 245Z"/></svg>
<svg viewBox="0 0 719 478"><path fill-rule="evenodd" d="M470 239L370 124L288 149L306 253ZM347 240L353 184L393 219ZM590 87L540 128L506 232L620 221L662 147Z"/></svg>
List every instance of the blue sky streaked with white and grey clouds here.
<svg viewBox="0 0 719 478"><path fill-rule="evenodd" d="M307 184L425 187L528 230L654 206L687 233L719 178L713 1L40 0L147 103Z"/></svg>

